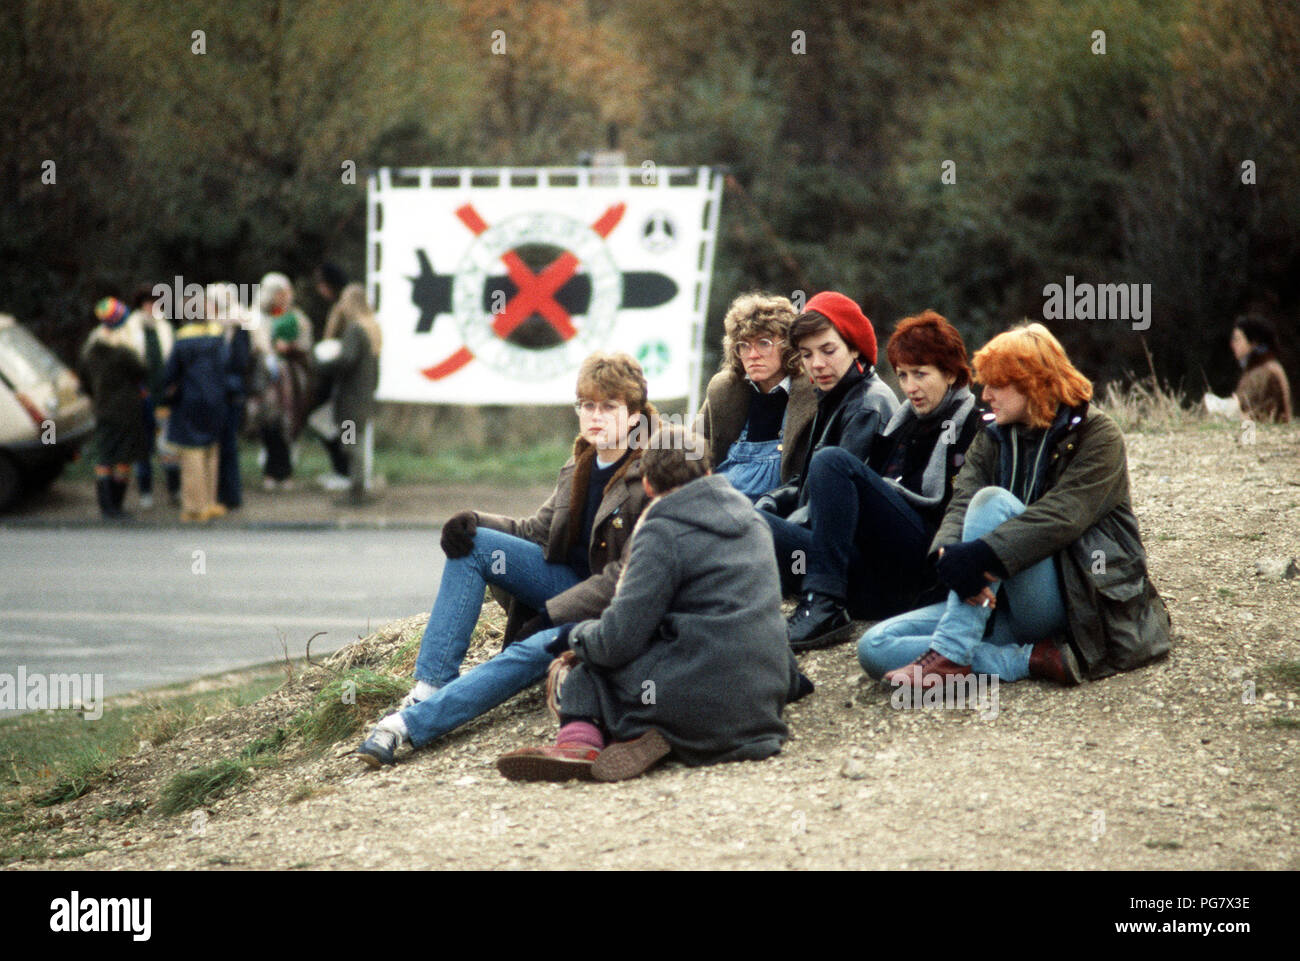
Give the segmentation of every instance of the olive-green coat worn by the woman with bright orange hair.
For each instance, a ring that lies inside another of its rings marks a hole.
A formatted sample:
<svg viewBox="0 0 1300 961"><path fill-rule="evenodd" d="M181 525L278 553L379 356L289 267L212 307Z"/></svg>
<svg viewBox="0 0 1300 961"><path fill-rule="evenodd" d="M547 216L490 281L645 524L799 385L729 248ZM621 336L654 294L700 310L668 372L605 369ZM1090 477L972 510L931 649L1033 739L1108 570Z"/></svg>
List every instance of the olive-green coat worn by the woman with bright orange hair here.
<svg viewBox="0 0 1300 961"><path fill-rule="evenodd" d="M1165 602L1128 498L1128 459L1115 423L1087 403L1061 407L1045 436L1045 469L1019 516L982 538L1009 576L1054 558L1072 641L1091 678L1127 671L1169 650ZM1046 455L1050 451L1050 455ZM975 492L1011 488L1011 432L989 424L966 453L931 551L962 540Z"/></svg>

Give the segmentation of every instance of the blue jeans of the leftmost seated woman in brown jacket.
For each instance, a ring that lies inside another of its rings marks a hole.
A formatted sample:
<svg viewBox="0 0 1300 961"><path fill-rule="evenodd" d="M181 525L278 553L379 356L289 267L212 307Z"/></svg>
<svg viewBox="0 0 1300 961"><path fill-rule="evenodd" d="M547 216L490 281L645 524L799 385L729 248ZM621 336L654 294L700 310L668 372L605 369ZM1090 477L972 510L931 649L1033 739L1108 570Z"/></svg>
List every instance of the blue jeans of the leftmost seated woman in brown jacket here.
<svg viewBox="0 0 1300 961"><path fill-rule="evenodd" d="M558 628L516 641L465 675L460 662L482 610L484 592L497 584L521 603L541 609L581 580L568 564L552 564L532 541L478 528L474 546L442 570L438 598L420 640L416 680L441 685L430 697L402 711L417 748L507 701L546 675L551 655L545 648Z"/></svg>

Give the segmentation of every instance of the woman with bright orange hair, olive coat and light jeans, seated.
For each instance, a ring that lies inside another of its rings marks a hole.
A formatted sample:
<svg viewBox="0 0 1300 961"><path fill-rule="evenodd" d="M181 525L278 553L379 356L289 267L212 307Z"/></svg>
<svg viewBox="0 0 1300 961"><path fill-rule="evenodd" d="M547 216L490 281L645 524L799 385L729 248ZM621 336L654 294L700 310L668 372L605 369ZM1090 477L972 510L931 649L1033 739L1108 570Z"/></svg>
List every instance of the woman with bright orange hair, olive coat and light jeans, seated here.
<svg viewBox="0 0 1300 961"><path fill-rule="evenodd" d="M974 367L993 423L931 542L948 598L867 631L863 668L893 687L971 674L1079 684L1165 654L1123 434L1089 406L1092 384L1041 324L998 334Z"/></svg>

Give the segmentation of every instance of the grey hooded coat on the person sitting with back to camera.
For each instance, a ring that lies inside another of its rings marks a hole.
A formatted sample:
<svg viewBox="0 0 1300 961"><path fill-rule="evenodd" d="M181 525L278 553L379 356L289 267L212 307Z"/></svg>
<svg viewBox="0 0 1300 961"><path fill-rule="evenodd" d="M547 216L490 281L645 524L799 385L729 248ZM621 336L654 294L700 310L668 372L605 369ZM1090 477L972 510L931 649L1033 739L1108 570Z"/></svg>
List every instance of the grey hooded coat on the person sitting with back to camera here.
<svg viewBox="0 0 1300 961"><path fill-rule="evenodd" d="M646 508L614 601L569 645L581 663L562 710L598 705L612 740L653 727L689 765L759 759L785 741L792 658L772 536L722 475Z"/></svg>

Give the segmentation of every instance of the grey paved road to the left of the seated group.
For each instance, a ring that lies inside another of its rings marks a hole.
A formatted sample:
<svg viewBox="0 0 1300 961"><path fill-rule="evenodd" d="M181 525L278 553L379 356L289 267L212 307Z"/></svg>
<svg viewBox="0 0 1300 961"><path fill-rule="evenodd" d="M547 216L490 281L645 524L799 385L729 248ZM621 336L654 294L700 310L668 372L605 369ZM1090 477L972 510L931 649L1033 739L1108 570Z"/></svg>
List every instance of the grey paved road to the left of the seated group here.
<svg viewBox="0 0 1300 961"><path fill-rule="evenodd" d="M0 674L122 693L334 650L429 610L436 531L0 531Z"/></svg>

